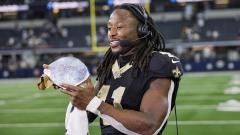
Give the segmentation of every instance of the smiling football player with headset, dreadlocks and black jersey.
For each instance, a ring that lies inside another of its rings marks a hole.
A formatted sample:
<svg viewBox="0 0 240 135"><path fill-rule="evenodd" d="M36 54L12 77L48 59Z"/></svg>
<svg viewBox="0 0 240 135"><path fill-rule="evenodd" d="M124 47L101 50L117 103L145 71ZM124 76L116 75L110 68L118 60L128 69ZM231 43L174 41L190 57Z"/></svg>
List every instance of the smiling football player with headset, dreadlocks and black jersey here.
<svg viewBox="0 0 240 135"><path fill-rule="evenodd" d="M140 5L115 6L107 26L110 47L95 88L62 84L61 91L90 121L101 118L103 135L161 134L183 74L180 60L164 52L163 36Z"/></svg>

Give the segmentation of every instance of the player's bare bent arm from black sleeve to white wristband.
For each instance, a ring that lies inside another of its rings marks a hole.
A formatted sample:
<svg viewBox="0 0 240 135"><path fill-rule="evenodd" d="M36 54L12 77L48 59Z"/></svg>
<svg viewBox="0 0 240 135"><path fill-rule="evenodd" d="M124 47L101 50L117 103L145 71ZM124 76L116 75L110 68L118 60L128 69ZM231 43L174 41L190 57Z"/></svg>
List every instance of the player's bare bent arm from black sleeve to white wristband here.
<svg viewBox="0 0 240 135"><path fill-rule="evenodd" d="M123 124L127 129L143 134L154 134L168 117L168 93L171 81L156 79L151 82L149 89L144 94L140 111L119 110L113 106L102 103L98 110L101 114L108 115ZM169 114L168 114L169 115Z"/></svg>

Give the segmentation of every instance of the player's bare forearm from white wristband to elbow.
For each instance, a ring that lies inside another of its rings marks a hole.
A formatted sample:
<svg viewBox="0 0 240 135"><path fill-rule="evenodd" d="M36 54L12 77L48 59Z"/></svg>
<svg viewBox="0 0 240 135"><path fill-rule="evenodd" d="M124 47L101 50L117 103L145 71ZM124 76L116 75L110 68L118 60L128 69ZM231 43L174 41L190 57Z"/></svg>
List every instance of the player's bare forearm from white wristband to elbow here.
<svg viewBox="0 0 240 135"><path fill-rule="evenodd" d="M158 127L156 119L146 112L120 110L104 102L99 106L98 110L101 114L112 117L128 130L138 134L153 134Z"/></svg>

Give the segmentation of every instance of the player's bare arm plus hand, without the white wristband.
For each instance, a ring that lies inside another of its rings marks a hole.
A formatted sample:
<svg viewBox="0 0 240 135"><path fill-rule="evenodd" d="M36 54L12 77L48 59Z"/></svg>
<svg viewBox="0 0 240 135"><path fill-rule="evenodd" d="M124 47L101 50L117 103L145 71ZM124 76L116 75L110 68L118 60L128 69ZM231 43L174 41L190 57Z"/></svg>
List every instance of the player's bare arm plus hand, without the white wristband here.
<svg viewBox="0 0 240 135"><path fill-rule="evenodd" d="M154 134L159 127L162 127L162 123L170 113L171 103L168 101L168 96L171 96L169 92L174 87L171 82L169 79L152 81L143 96L140 111L119 110L104 102L100 104L98 111L100 115L110 116L130 131L143 135ZM79 87L67 84L63 84L62 87L65 89L61 91L71 96L72 104L82 110L86 109L95 96L95 90L91 86L87 90L80 90Z"/></svg>

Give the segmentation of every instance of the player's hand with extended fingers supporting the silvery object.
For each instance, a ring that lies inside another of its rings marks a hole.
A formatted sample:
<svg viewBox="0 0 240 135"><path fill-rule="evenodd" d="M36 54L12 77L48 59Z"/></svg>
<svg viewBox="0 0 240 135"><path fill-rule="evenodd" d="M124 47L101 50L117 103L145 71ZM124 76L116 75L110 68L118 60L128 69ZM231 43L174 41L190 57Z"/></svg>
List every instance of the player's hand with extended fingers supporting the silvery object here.
<svg viewBox="0 0 240 135"><path fill-rule="evenodd" d="M72 104L81 110L86 110L87 105L95 96L95 90L90 78L87 79L84 83L86 83L84 87L81 87L82 85L80 86L73 86L69 84L60 85L61 92L69 95L71 97L70 101L72 102Z"/></svg>

